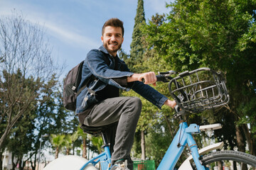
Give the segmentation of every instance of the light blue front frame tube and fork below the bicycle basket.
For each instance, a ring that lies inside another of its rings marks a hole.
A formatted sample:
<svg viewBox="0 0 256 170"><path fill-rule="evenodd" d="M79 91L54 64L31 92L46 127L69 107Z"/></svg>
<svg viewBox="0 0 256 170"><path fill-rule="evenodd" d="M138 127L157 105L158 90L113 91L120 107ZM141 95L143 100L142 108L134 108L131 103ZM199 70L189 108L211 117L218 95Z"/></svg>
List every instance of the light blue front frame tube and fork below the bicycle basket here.
<svg viewBox="0 0 256 170"><path fill-rule="evenodd" d="M193 140L193 134L199 133L199 126L196 124L191 124L188 127L186 122L180 123L179 130L176 133L174 140L171 142L169 149L166 154L164 154L164 158L161 160L157 170L161 169L174 169L174 166L178 162L179 157L183 152L183 149L188 144L189 149L191 150L191 154L193 160L196 164L198 170L205 170L204 166L201 165L199 161L198 147L196 145L196 141Z"/></svg>

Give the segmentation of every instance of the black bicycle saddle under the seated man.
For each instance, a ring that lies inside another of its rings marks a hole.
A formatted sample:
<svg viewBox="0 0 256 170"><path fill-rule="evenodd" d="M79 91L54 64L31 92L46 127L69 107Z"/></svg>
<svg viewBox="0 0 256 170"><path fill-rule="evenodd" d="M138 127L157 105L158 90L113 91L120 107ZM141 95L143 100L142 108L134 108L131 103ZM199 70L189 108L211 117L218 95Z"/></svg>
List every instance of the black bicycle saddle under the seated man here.
<svg viewBox="0 0 256 170"><path fill-rule="evenodd" d="M104 126L87 126L87 125L80 125L80 128L83 130L83 132L89 133L90 135L101 135L102 132L105 132L105 130L108 130L112 126L117 125L117 123L112 123L110 125L104 125Z"/></svg>

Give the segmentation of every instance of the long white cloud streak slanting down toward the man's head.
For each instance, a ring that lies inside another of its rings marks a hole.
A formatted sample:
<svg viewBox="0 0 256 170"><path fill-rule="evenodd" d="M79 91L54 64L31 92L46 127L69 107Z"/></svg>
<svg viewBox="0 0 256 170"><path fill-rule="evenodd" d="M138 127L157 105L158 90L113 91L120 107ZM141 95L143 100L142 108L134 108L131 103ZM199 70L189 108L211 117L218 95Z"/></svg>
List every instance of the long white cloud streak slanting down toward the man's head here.
<svg viewBox="0 0 256 170"><path fill-rule="evenodd" d="M38 6L9 2L0 7L0 14L1 16L11 16L14 9L17 13L21 13L26 20L45 28L47 35L56 38L60 42L89 49L100 44L97 40L80 33L78 28L72 27L72 24L68 24L67 16L63 16L62 13L47 13Z"/></svg>

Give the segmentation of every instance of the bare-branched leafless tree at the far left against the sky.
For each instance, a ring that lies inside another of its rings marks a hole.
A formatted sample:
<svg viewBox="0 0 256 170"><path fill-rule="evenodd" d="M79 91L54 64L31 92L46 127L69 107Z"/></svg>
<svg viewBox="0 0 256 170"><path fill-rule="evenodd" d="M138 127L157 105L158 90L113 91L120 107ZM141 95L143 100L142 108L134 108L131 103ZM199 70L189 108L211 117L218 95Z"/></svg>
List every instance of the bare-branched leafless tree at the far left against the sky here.
<svg viewBox="0 0 256 170"><path fill-rule="evenodd" d="M15 11L12 16L0 18L0 58L0 124L5 125L0 138L2 148L19 118L36 108L36 99L46 100L43 89L58 67L50 57L43 30Z"/></svg>

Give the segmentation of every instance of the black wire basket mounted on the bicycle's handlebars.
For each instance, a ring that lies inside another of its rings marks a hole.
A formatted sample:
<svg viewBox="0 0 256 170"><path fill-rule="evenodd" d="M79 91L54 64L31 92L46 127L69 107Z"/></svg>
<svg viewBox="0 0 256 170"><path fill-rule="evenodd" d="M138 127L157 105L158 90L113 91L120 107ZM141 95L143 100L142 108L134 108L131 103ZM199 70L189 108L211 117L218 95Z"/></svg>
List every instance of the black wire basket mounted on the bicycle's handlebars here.
<svg viewBox="0 0 256 170"><path fill-rule="evenodd" d="M229 101L225 79L206 67L178 74L169 82L169 91L177 105L190 113L223 106Z"/></svg>

